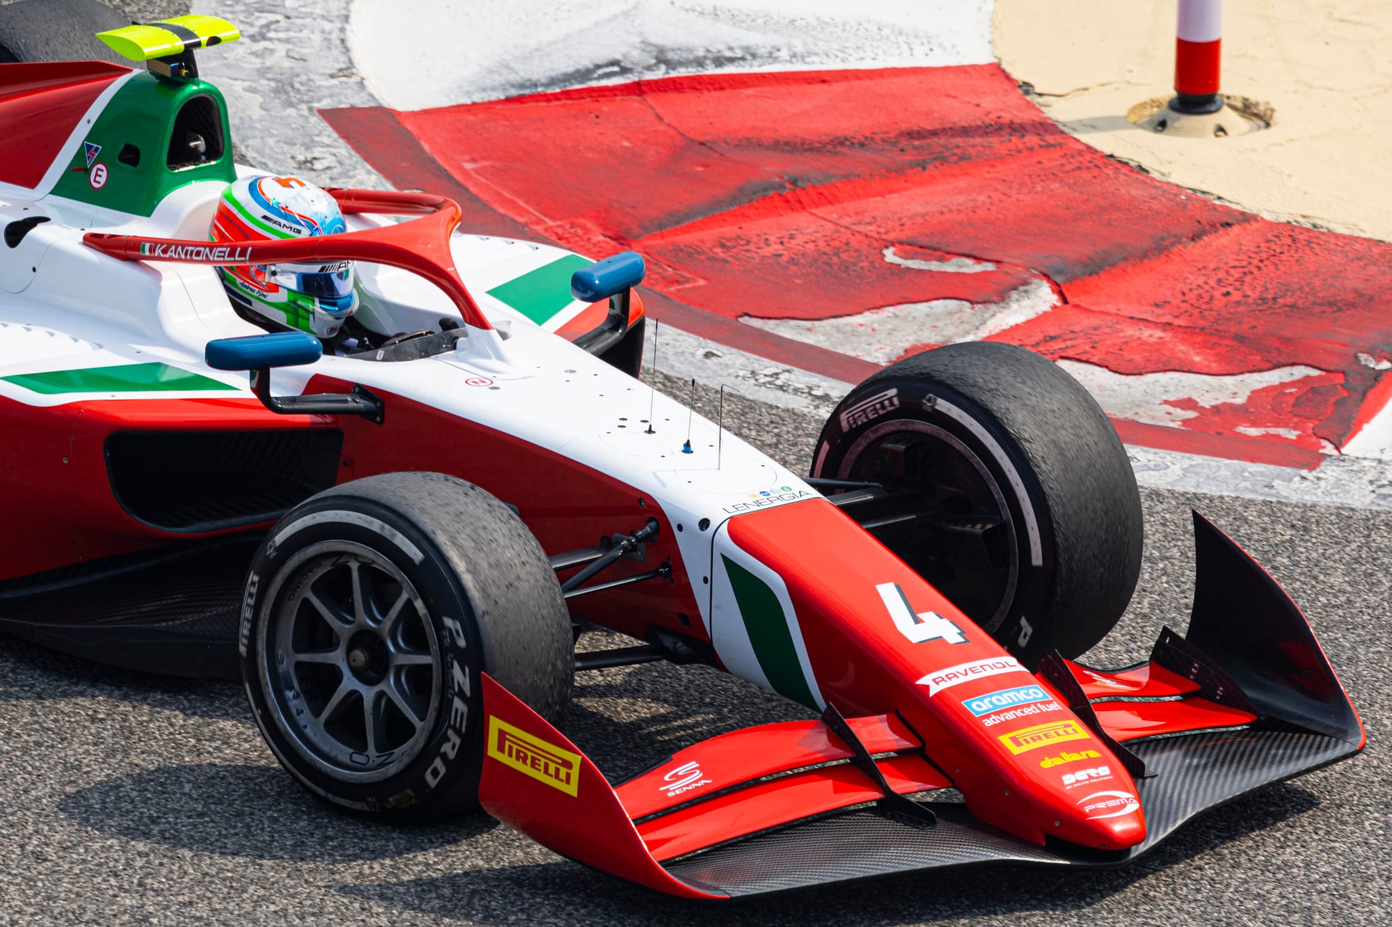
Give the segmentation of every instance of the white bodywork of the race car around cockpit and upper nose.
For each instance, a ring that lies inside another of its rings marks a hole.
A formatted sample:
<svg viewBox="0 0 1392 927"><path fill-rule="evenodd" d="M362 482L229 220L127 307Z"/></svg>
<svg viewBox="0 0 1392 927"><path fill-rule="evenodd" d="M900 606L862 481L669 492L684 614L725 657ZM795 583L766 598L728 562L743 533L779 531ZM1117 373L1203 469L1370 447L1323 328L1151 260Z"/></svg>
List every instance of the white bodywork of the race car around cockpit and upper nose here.
<svg viewBox="0 0 1392 927"><path fill-rule="evenodd" d="M249 393L244 374L212 370L203 362L210 340L262 331L232 310L212 267L121 262L82 244L84 232L92 230L205 239L221 187L184 187L149 219L35 198L33 192L0 196L0 227L33 214L50 219L17 248L0 248L0 377L160 360ZM490 287L567 252L466 234L455 234L451 246L494 330L468 328L455 351L419 360L379 363L330 355L312 366L278 369L273 391L299 394L315 374L361 383L514 434L622 480L657 501L674 525L685 526L675 539L709 626L710 586L700 578L711 575L711 537L721 523L741 511L816 493L746 443L721 434L715 423L690 416L686 406L487 295ZM380 320L387 330L437 328L441 316L458 315L443 292L405 271L362 267L361 285L374 298L379 315L387 316ZM583 308L574 303L547 327ZM0 397L28 405L188 395L207 394L47 395L0 379ZM682 447L688 437L690 454ZM703 519L709 519L706 530L697 528ZM636 528L615 525L615 530Z"/></svg>

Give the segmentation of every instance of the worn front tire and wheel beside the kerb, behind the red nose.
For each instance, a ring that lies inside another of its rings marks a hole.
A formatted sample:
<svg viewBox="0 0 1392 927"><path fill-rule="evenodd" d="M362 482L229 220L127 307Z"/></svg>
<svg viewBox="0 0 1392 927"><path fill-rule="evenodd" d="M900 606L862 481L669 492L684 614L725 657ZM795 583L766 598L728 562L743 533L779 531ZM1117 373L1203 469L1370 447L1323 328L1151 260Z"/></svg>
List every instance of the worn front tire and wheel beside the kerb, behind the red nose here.
<svg viewBox="0 0 1392 927"><path fill-rule="evenodd" d="M846 511L1030 668L1089 650L1136 589L1126 451L1091 395L1023 348L945 345L871 376L823 427L812 476L898 490Z"/></svg>

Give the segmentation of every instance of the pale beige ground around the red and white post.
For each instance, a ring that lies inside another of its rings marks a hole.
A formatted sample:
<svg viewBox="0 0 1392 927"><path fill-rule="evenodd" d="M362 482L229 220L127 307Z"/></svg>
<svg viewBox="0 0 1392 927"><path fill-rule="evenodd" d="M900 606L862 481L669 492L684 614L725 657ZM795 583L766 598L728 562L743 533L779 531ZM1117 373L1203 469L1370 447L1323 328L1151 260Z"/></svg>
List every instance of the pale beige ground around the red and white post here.
<svg viewBox="0 0 1392 927"><path fill-rule="evenodd" d="M1226 138L1126 118L1172 96L1173 0L997 0L994 32L1005 70L1089 145L1271 219L1392 241L1392 3L1228 3L1222 90L1271 125Z"/></svg>

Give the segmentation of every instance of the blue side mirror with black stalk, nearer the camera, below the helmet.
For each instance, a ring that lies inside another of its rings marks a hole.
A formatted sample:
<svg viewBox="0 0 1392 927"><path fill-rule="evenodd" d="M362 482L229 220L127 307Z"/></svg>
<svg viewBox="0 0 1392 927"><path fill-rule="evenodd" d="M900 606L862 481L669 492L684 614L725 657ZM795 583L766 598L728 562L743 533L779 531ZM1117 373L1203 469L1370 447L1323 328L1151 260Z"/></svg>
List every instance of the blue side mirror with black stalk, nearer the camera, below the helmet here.
<svg viewBox="0 0 1392 927"><path fill-rule="evenodd" d="M306 331L273 331L241 338L217 338L203 349L203 359L214 370L251 370L252 393L262 405L277 415L361 415L381 425L381 399L362 386L352 393L315 395L270 394L270 369L294 367L319 360L324 345Z"/></svg>

